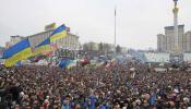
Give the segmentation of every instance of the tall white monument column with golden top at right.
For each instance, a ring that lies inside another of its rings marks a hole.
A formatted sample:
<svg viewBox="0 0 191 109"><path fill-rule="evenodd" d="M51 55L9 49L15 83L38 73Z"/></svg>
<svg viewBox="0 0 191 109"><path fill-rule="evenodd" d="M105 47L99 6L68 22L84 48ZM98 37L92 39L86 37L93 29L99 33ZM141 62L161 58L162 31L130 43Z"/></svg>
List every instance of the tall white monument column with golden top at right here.
<svg viewBox="0 0 191 109"><path fill-rule="evenodd" d="M179 52L180 48L179 48L179 44L178 44L178 8L177 8L177 2L178 0L174 0L175 2L175 8L172 10L174 12L174 51L175 52Z"/></svg>

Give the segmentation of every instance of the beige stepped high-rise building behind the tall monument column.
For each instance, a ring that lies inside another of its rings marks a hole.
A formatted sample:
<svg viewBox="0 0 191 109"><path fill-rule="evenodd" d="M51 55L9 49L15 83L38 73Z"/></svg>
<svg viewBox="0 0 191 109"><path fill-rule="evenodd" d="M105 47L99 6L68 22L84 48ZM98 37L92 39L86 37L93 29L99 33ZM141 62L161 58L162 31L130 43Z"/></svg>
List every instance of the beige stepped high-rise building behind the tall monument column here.
<svg viewBox="0 0 191 109"><path fill-rule="evenodd" d="M157 51L172 52L174 48L174 26L166 26L165 35L157 35ZM191 52L191 31L184 32L184 25L178 26L178 48L180 52Z"/></svg>

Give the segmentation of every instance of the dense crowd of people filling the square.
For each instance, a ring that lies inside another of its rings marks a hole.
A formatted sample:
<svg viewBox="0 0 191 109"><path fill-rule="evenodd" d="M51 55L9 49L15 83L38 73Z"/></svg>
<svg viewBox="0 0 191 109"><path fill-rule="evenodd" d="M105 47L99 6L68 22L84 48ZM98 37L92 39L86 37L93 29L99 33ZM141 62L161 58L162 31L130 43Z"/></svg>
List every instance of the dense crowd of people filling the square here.
<svg viewBox="0 0 191 109"><path fill-rule="evenodd" d="M187 109L191 72L156 72L132 62L70 70L1 66L0 93L1 104L13 109Z"/></svg>

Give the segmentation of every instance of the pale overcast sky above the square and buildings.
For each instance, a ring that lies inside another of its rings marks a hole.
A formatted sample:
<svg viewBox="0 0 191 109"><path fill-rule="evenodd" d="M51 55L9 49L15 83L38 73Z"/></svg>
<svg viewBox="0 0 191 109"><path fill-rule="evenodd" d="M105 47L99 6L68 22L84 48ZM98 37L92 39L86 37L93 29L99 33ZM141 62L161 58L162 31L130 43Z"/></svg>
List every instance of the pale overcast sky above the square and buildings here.
<svg viewBox="0 0 191 109"><path fill-rule="evenodd" d="M114 43L115 5L118 45L156 48L156 35L172 25L172 0L0 0L0 46L52 22L64 23L81 43ZM179 8L179 23L191 31L191 0L180 0Z"/></svg>

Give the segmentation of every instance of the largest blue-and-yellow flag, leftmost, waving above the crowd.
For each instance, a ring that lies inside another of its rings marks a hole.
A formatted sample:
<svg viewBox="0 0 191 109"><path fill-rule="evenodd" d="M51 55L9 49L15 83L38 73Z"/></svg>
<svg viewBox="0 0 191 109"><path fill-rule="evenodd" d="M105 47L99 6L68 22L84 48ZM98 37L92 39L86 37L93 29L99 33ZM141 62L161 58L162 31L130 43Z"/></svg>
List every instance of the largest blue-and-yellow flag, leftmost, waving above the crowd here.
<svg viewBox="0 0 191 109"><path fill-rule="evenodd" d="M4 65L12 66L17 61L25 60L32 56L32 49L28 39L23 39L3 52L5 59Z"/></svg>

